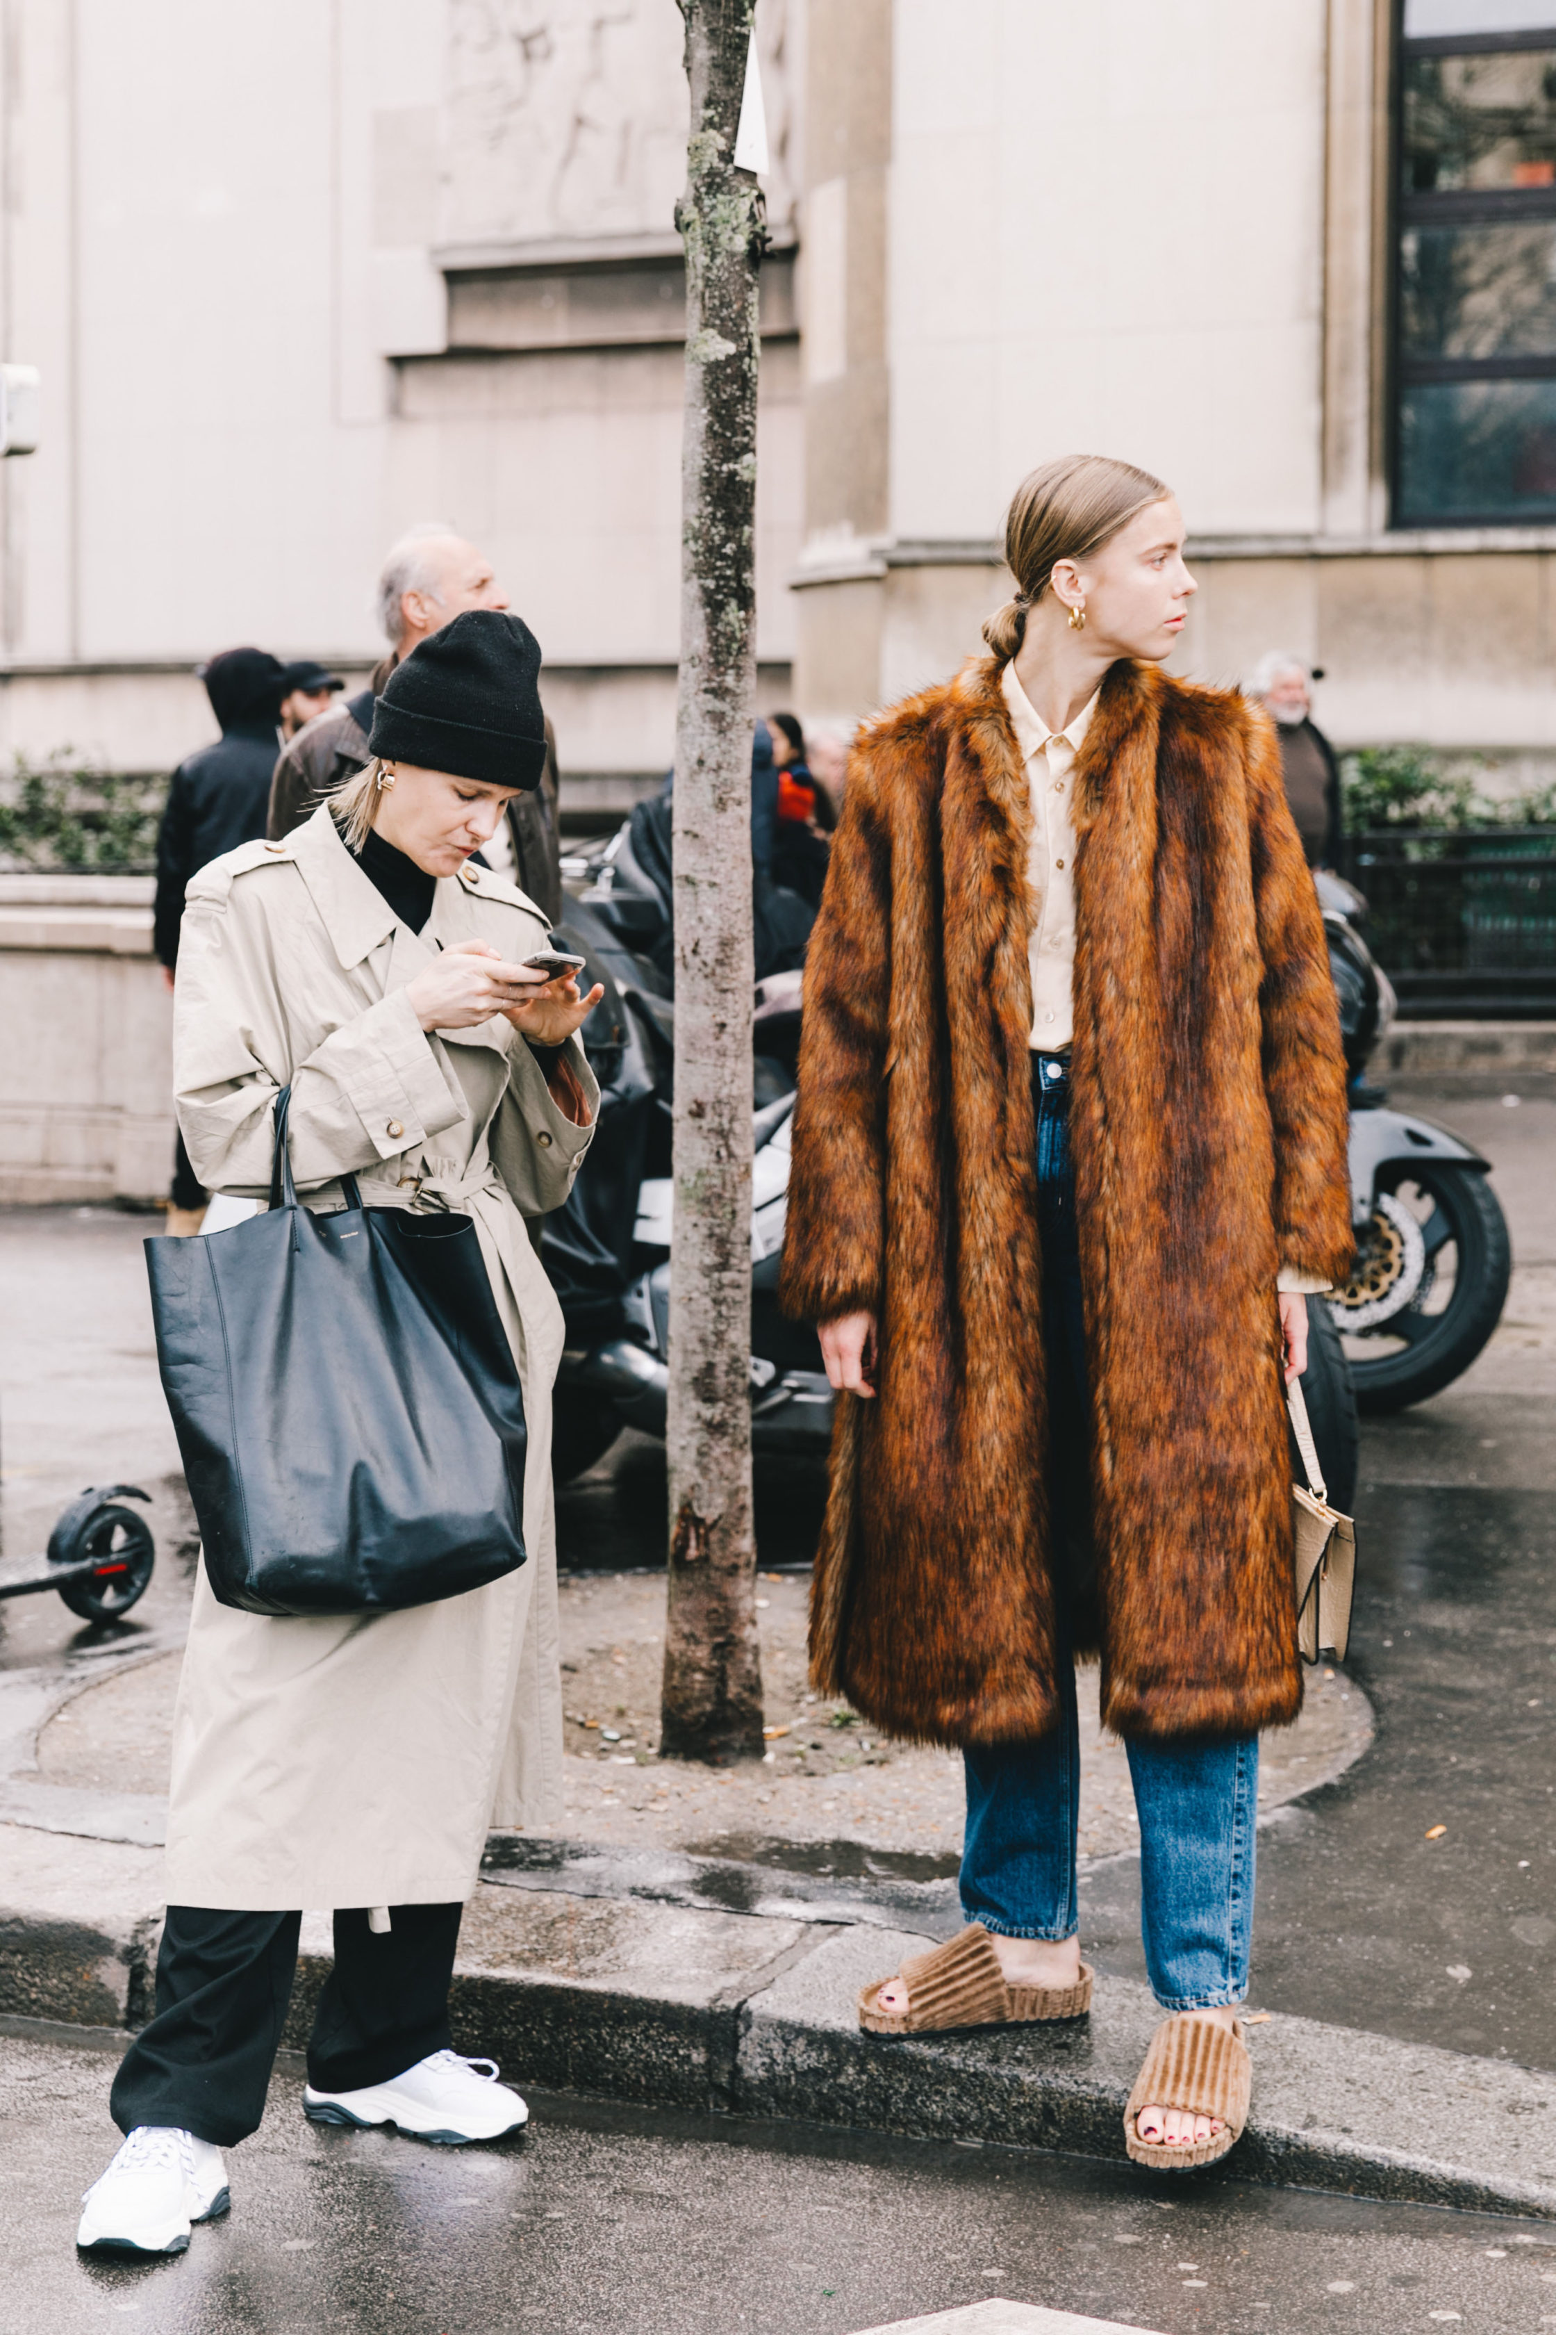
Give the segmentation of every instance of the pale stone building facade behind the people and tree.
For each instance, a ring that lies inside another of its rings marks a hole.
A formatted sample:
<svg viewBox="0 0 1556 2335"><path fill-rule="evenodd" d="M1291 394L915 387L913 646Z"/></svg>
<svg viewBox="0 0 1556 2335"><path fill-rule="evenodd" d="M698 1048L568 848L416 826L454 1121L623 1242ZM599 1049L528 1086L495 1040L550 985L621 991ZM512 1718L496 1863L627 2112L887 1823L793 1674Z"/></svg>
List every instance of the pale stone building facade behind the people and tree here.
<svg viewBox="0 0 1556 2335"><path fill-rule="evenodd" d="M761 0L763 703L949 670L1033 462L1180 493L1178 661L1556 754L1556 0ZM670 754L674 0L0 0L0 754L156 768L203 654L359 672L488 546L574 817ZM1549 79L1549 91L1547 91Z"/></svg>

